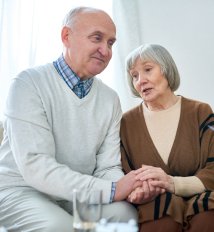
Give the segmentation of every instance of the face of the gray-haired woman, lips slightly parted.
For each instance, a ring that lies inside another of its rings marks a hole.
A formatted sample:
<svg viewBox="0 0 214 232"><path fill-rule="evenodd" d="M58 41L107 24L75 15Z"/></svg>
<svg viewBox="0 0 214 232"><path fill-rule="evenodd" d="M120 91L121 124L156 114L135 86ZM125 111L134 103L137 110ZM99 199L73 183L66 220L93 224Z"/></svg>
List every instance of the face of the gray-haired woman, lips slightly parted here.
<svg viewBox="0 0 214 232"><path fill-rule="evenodd" d="M145 103L160 102L171 92L160 66L152 61L142 62L137 59L130 69L130 75L134 88Z"/></svg>

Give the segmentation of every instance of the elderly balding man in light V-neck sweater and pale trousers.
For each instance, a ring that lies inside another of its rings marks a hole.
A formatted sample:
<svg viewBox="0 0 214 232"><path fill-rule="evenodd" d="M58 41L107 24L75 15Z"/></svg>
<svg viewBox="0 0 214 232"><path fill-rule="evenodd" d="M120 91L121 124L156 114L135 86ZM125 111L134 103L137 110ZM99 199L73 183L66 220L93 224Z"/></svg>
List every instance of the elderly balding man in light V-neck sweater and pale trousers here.
<svg viewBox="0 0 214 232"><path fill-rule="evenodd" d="M0 225L71 232L75 188L103 190L102 216L110 221L137 219L123 201L138 182L121 170L119 98L95 77L115 37L104 11L73 9L61 31L62 55L14 79L0 149Z"/></svg>

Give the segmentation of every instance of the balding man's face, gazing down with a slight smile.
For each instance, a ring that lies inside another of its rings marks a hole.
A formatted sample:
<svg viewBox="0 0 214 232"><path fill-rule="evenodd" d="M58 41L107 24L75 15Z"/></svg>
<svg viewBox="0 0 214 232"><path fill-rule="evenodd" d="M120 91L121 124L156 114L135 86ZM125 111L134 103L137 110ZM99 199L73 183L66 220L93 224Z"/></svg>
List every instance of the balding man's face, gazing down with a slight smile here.
<svg viewBox="0 0 214 232"><path fill-rule="evenodd" d="M112 57L116 40L116 28L110 17L103 12L81 13L67 30L67 64L81 79L101 73Z"/></svg>

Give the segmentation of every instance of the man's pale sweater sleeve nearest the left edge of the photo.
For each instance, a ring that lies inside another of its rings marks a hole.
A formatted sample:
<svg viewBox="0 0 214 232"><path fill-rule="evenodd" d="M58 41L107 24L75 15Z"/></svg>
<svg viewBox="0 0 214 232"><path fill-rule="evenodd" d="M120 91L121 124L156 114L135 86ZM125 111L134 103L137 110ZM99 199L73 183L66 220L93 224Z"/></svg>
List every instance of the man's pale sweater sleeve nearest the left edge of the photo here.
<svg viewBox="0 0 214 232"><path fill-rule="evenodd" d="M22 74L25 75L25 74ZM112 181L81 174L56 160L56 144L51 123L35 86L17 79L7 100L6 131L17 175L27 186L72 201L72 190L99 186L103 202L109 203ZM12 162L12 157L10 158Z"/></svg>

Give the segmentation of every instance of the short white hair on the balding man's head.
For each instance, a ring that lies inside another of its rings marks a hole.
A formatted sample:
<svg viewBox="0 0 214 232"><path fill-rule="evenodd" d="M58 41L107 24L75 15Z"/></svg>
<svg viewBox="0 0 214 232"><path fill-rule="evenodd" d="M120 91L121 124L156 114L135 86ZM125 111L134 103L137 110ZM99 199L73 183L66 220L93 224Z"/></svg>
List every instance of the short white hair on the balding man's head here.
<svg viewBox="0 0 214 232"><path fill-rule="evenodd" d="M97 12L104 12L104 11L102 11L100 9L93 8L93 7L85 7L85 6L73 8L66 14L66 16L62 22L62 26L63 27L65 27L65 26L72 27L77 20L76 16L78 16L79 14L84 13L84 12L97 13Z"/></svg>

